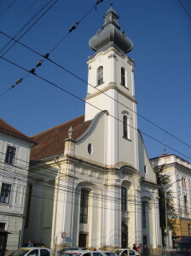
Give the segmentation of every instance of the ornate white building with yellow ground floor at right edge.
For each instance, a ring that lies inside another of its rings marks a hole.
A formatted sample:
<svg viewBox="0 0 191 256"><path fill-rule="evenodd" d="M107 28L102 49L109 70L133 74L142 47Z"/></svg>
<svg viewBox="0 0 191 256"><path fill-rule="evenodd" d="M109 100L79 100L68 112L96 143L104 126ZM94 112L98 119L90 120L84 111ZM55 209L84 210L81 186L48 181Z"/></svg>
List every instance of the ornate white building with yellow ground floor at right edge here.
<svg viewBox="0 0 191 256"><path fill-rule="evenodd" d="M177 212L176 230L169 232L169 245L180 236L191 236L191 164L175 154L151 159L154 166L165 166L164 174L171 180L173 204Z"/></svg>

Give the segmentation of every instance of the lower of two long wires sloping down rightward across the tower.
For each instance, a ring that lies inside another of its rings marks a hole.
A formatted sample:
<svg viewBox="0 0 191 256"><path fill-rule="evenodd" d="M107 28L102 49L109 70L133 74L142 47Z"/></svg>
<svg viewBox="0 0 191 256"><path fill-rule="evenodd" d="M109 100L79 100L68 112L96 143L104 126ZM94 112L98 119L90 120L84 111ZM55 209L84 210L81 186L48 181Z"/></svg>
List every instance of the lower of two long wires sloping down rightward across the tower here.
<svg viewBox="0 0 191 256"><path fill-rule="evenodd" d="M59 89L59 90L62 90L62 91L64 91L64 92L67 92L67 94L69 94L69 95L71 95L71 96L77 98L78 100L80 100L80 101L82 101L82 102L85 102L84 99L80 98L79 96L76 96L75 94L73 94L72 92L70 92L70 91L68 91L68 90L66 90L66 89L61 88L60 85L57 85L57 84L55 84L55 83L49 81L48 79L44 79L43 77L39 76L37 73L34 72L34 69L33 69L33 68L32 68L32 70L27 70L25 67L21 67L20 65L14 63L13 61L9 61L8 59L4 58L3 56L1 56L1 58L2 58L4 61L8 61L9 63L11 63L12 65L14 65L15 67L20 67L20 69L25 70L25 71L28 72L28 73L32 73L33 75L35 75L36 77L38 77L38 79L41 79L41 80L43 80L44 82L46 82L46 83L48 83L48 84L51 84L51 85L54 86L55 88L57 88L57 89ZM94 105L91 104L90 102L86 102L86 103L89 104L90 106L92 106L93 108L96 108L96 109L98 109L99 111L102 111L101 108L97 108L96 106L94 106ZM117 118L114 117L113 115L111 115L111 114L109 114L109 115L110 115L112 118L117 119ZM120 120L120 119L117 119L117 120L119 120L119 122L123 123L123 120ZM138 131L135 127L133 127L133 126L131 126L131 125L129 125L129 126L130 126L132 129ZM156 138L154 138L154 137L148 135L147 133L145 133L145 132L143 132L143 131L140 131L140 132L141 132L143 135L145 135L145 136L147 136L147 137L153 139L155 142L164 145L163 142L160 142L158 139L156 139ZM173 151L177 152L178 154L181 154L181 155L183 155L184 157L186 157L186 158L188 158L188 159L191 160L191 158L190 158L188 155L182 154L182 153L179 152L177 149L171 148L171 146L169 146L169 145L167 145L167 144L166 144L166 147L172 149Z"/></svg>

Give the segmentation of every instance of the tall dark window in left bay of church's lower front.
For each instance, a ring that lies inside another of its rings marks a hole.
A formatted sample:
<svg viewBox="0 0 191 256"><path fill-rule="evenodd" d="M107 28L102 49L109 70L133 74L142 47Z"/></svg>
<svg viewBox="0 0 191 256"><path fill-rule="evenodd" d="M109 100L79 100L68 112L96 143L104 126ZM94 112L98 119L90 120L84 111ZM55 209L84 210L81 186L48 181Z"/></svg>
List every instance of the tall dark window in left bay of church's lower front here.
<svg viewBox="0 0 191 256"><path fill-rule="evenodd" d="M80 200L80 223L88 223L88 200L89 191L81 189L81 200Z"/></svg>

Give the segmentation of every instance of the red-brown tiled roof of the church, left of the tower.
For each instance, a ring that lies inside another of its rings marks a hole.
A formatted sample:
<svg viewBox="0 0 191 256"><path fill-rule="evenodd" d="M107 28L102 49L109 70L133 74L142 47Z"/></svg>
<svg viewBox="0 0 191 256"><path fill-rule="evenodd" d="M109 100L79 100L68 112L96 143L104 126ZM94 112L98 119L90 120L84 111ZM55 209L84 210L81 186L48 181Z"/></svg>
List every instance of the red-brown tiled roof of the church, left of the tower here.
<svg viewBox="0 0 191 256"><path fill-rule="evenodd" d="M64 140L68 138L67 131L69 128L72 126L74 131L72 139L76 140L87 130L90 122L91 120L84 122L84 115L82 115L31 137L38 143L32 147L31 160L42 160L64 153Z"/></svg>

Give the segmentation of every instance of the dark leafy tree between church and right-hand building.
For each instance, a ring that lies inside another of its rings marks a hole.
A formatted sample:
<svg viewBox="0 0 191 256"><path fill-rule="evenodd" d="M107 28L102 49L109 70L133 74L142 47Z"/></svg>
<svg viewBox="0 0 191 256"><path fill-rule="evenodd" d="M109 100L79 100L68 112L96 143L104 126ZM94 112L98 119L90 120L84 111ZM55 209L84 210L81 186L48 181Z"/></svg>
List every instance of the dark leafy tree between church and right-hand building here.
<svg viewBox="0 0 191 256"><path fill-rule="evenodd" d="M168 230L174 231L176 229L175 222L177 214L173 204L173 193L171 191L170 177L164 173L165 165L155 166L157 183L159 185L159 224L162 232L162 242L165 247L165 237ZM166 224L167 218L167 224Z"/></svg>

